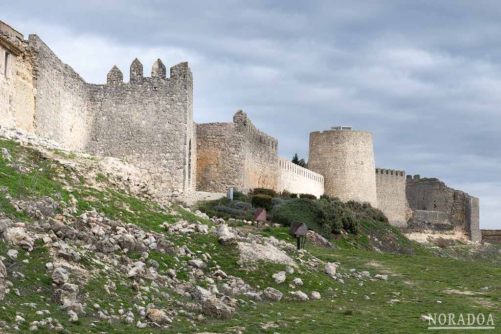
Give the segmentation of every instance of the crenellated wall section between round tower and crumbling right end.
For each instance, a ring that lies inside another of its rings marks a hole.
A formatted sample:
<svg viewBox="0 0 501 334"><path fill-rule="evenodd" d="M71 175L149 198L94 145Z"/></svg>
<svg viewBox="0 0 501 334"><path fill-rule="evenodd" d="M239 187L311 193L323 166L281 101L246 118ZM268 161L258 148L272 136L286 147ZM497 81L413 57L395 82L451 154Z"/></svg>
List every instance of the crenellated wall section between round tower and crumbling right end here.
<svg viewBox="0 0 501 334"><path fill-rule="evenodd" d="M376 191L378 209L392 225L406 227L405 171L376 168Z"/></svg>

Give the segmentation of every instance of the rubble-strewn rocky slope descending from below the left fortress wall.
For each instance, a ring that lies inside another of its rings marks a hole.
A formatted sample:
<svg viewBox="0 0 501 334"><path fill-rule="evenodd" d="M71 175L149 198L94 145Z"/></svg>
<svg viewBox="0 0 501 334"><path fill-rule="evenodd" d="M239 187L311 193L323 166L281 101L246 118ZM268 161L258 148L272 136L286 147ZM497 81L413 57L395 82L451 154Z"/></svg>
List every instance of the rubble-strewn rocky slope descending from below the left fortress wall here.
<svg viewBox="0 0 501 334"><path fill-rule="evenodd" d="M22 131L2 134L6 332L178 330L256 303L321 299L347 279L387 279L150 201L147 183L134 179L140 173L117 159L62 151ZM266 284L286 277L292 283L282 291Z"/></svg>

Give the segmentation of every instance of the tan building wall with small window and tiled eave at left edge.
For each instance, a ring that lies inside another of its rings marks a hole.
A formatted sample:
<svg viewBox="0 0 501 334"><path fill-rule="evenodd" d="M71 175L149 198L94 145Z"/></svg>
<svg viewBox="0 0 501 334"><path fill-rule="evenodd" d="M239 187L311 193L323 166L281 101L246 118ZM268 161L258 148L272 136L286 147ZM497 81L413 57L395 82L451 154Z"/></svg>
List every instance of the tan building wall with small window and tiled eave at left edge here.
<svg viewBox="0 0 501 334"><path fill-rule="evenodd" d="M30 50L26 42L0 32L0 125L34 132L34 114L35 87Z"/></svg>

